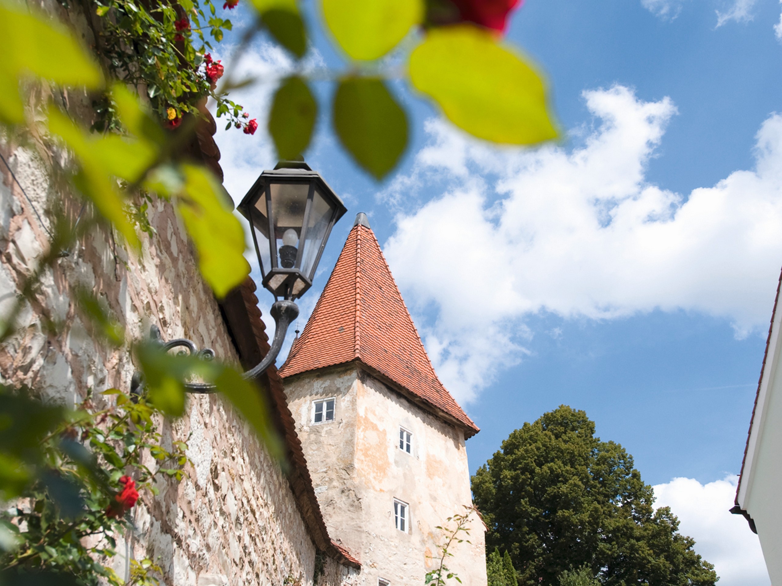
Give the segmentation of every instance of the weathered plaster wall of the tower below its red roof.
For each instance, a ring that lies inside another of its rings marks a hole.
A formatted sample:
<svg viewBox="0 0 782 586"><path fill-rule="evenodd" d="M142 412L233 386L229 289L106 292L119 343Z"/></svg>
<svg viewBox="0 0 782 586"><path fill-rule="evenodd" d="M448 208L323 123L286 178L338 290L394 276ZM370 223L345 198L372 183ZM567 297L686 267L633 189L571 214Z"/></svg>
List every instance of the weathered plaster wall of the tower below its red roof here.
<svg viewBox="0 0 782 586"><path fill-rule="evenodd" d="M422 584L439 557L447 517L472 505L463 431L408 402L353 367L304 373L286 381L326 523L362 563L361 584ZM314 425L312 402L337 397L335 422ZM413 432L413 451L399 448L399 427ZM317 462L317 465L314 465ZM353 484L332 482L335 472ZM396 530L393 499L410 504L411 527ZM447 566L465 585L486 584L485 527L477 516Z"/></svg>

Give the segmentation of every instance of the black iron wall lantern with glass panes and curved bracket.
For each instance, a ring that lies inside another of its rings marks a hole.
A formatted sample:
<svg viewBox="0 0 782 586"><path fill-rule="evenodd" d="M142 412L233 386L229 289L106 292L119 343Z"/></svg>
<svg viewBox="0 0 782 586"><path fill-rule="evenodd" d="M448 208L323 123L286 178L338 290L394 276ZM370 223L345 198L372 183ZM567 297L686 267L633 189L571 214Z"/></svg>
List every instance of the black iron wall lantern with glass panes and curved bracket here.
<svg viewBox="0 0 782 586"><path fill-rule="evenodd" d="M347 209L323 177L303 161L282 161L274 170L260 173L238 209L249 220L262 282L275 299L270 312L276 326L271 348L260 364L243 375L254 379L277 359L288 327L299 315L294 300L312 286L328 235ZM163 341L154 326L152 338L166 351L185 348L204 359L214 356L209 348L199 352L185 338ZM134 392L140 384L137 373L131 385ZM216 391L213 384L206 383L188 383L185 388L192 393Z"/></svg>

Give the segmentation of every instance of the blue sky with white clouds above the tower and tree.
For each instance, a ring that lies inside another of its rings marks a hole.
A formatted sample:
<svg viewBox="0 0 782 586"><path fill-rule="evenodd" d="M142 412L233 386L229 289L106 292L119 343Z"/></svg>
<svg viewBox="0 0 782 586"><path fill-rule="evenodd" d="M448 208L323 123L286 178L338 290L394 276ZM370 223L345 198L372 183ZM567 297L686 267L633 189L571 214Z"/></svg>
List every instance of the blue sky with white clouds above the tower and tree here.
<svg viewBox="0 0 782 586"><path fill-rule="evenodd" d="M635 456L720 584L768 584L755 536L726 509L782 265L780 9L527 0L508 40L547 72L561 145L492 148L398 81L411 148L377 184L337 147L332 84L319 81L306 153L349 213L303 316L354 214L368 213L432 362L482 427L472 470L525 421L585 409ZM344 66L322 33L306 64L321 77ZM263 82L235 96L262 118L292 65L261 39L237 66ZM238 201L274 153L262 131L217 141Z"/></svg>

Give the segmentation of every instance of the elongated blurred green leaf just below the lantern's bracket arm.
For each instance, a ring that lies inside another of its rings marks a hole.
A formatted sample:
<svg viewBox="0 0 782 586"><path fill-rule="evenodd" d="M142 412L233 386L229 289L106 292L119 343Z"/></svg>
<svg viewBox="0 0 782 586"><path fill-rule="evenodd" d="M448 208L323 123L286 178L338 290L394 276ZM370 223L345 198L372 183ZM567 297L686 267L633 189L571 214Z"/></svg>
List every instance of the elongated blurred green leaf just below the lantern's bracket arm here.
<svg viewBox="0 0 782 586"><path fill-rule="evenodd" d="M274 428L269 407L259 388L232 368L224 367L214 380L217 389L242 413L274 458L282 460L285 448Z"/></svg>

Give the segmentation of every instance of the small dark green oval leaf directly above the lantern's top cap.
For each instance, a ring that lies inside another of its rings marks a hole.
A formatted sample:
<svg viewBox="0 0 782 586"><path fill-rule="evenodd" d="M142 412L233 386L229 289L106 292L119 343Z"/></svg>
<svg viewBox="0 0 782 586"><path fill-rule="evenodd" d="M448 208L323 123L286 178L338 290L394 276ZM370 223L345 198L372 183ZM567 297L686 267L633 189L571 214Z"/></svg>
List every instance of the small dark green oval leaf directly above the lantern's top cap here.
<svg viewBox="0 0 782 586"><path fill-rule="evenodd" d="M289 77L274 94L269 113L269 134L279 159L295 159L312 138L317 102L300 77Z"/></svg>

